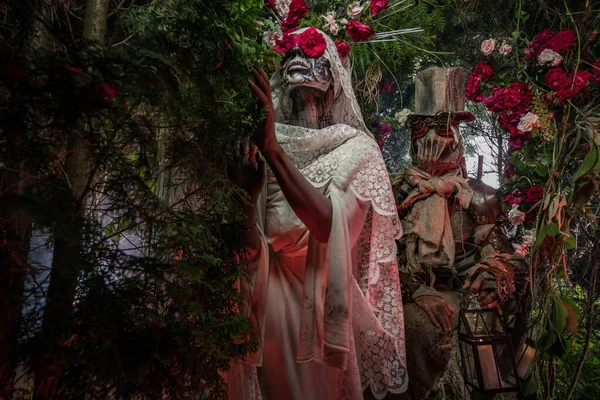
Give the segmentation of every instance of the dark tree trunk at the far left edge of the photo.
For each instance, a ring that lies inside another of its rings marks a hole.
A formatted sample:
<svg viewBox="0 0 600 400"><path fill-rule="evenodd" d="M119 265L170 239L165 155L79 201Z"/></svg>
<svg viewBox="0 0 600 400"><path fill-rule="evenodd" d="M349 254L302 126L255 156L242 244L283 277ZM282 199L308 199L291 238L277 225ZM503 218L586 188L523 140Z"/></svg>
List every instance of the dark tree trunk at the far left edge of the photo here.
<svg viewBox="0 0 600 400"><path fill-rule="evenodd" d="M51 37L44 26L49 7L45 2L26 3L32 15L37 15L27 32L24 59L42 57L47 53ZM14 96L18 98L19 96ZM18 100L17 100L18 101ZM6 147L10 157L0 174L0 399L13 396L15 372L19 363L18 340L22 322L25 277L28 265L33 217L28 209L27 176L31 166L22 155L26 154L26 135L32 129L28 121L35 119L33 108L21 99L20 113L6 132Z"/></svg>

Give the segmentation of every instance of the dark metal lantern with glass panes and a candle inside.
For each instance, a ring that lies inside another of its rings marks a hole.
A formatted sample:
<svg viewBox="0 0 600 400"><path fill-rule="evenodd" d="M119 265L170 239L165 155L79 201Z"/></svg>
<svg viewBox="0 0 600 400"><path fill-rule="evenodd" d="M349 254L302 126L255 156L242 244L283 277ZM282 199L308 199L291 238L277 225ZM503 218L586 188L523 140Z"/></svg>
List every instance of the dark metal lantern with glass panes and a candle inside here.
<svg viewBox="0 0 600 400"><path fill-rule="evenodd" d="M458 340L468 386L481 393L519 390L513 344L495 308L461 307Z"/></svg>

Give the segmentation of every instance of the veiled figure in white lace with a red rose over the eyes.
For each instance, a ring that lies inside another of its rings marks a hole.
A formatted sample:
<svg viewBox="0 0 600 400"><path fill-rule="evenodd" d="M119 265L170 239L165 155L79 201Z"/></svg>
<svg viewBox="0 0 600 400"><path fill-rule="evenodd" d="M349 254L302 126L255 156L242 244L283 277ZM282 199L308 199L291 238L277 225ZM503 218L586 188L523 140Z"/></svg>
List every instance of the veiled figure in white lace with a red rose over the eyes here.
<svg viewBox="0 0 600 400"><path fill-rule="evenodd" d="M270 82L254 72L266 119L230 168L251 199L240 312L259 349L229 398L382 399L408 385L391 182L336 45L291 40Z"/></svg>

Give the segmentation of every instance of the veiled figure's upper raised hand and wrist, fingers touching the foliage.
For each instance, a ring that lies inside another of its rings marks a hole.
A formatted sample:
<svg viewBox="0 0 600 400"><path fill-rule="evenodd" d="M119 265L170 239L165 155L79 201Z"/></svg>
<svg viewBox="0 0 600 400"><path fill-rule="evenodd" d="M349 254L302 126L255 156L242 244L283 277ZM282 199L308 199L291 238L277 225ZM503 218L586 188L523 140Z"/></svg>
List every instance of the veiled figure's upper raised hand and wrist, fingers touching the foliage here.
<svg viewBox="0 0 600 400"><path fill-rule="evenodd" d="M271 82L260 66L256 66L252 73L256 83L250 81L250 88L258 97L261 109L266 112L265 119L258 126L254 142L261 152L268 154L279 148L275 136L275 107L271 99Z"/></svg>

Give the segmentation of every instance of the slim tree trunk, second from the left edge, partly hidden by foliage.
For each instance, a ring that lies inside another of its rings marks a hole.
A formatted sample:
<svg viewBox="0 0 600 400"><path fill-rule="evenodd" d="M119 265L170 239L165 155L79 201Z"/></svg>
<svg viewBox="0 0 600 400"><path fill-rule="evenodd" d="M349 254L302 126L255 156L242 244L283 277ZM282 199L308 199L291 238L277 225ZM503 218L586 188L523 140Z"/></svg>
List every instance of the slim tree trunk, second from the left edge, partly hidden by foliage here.
<svg viewBox="0 0 600 400"><path fill-rule="evenodd" d="M109 0L88 0L83 37L102 45L106 35ZM91 129L92 127L88 127ZM73 303L77 276L81 269L83 226L86 194L91 181L92 160L87 143L75 130L67 143L65 173L71 184L66 223L57 226L54 236L52 272L48 289L49 302L44 310L42 338L45 355L35 365L35 398L50 400L59 396L65 359L61 343L68 339L72 328Z"/></svg>

